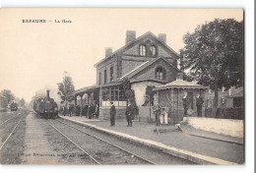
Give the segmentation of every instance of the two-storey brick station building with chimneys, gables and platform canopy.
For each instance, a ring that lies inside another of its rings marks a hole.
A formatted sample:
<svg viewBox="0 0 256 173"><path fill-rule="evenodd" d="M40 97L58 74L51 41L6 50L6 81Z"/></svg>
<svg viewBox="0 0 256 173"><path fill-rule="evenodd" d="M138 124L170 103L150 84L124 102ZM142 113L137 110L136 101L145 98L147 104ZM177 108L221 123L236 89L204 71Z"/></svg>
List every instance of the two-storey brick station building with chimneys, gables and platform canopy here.
<svg viewBox="0 0 256 173"><path fill-rule="evenodd" d="M125 45L116 51L105 48L105 57L96 63L96 85L75 90L69 97L76 105L99 106L99 119L109 118L110 101L116 107L116 118L125 117L127 100L122 83L128 80L134 89L138 106L145 102L146 87L160 87L176 80L179 55L166 44L166 34L151 31L137 37L126 31ZM81 113L82 113L81 109Z"/></svg>

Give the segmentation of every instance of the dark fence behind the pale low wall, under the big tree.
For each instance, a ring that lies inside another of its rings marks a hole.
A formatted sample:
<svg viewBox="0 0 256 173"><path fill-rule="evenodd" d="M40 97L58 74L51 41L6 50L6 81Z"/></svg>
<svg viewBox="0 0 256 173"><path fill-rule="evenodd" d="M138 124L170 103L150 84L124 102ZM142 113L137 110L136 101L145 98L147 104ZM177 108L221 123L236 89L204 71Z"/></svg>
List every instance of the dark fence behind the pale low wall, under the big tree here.
<svg viewBox="0 0 256 173"><path fill-rule="evenodd" d="M212 115L213 108L205 109L205 117L208 118L221 118L221 119L244 119L244 108L243 107L230 107L230 108L218 108L216 116Z"/></svg>

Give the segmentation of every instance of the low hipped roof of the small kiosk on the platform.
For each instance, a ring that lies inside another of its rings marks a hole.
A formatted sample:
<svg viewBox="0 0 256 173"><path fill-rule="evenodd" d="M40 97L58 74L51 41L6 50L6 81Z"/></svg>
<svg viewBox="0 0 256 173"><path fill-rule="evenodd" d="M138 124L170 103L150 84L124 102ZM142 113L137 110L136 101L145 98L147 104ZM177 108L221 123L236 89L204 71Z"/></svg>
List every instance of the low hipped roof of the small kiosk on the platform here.
<svg viewBox="0 0 256 173"><path fill-rule="evenodd" d="M166 85L160 86L160 87L156 87L154 88L154 90L160 90L160 89L167 89L167 88L209 88L209 87L204 87L204 86L200 86L196 83L193 82L187 82L184 80L175 80L171 83L168 83Z"/></svg>

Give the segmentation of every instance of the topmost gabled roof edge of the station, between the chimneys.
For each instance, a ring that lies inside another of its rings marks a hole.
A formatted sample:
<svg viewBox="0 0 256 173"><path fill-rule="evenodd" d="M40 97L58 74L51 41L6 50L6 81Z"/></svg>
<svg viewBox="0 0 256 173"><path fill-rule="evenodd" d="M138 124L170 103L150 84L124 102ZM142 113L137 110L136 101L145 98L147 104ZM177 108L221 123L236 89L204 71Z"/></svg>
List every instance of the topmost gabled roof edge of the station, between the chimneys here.
<svg viewBox="0 0 256 173"><path fill-rule="evenodd" d="M179 56L178 53L176 53L172 48L170 48L165 42L162 42L162 41L160 40L160 38L159 38L158 36L156 36L153 32L147 31L146 33L144 33L143 35L139 36L139 37L136 38L135 40L133 40L133 41L131 41L131 42L125 44L125 45L122 46L121 48L117 49L117 50L114 51L111 55L109 55L109 56L107 56L107 57L101 59L100 61L98 61L98 62L95 64L95 67L96 67L98 64L100 64L101 62L103 62L103 61L109 59L110 57L112 57L112 56L115 55L116 53L118 53L118 52L124 50L126 47L130 46L131 44L134 44L134 42L138 41L139 39L143 38L144 36L146 36L146 35L148 35L148 34L150 34L150 35L152 35L153 37L155 37L156 39L158 39L158 40L160 41L160 43L161 43L164 47L166 47L167 49L169 49L169 50L170 50L172 53L174 53L176 56Z"/></svg>

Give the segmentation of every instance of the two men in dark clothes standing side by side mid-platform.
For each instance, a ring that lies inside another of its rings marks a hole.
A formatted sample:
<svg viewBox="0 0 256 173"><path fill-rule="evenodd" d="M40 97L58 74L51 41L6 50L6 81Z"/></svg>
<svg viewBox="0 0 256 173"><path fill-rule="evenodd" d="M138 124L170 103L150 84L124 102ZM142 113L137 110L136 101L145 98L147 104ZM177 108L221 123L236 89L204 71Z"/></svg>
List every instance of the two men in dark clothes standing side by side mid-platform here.
<svg viewBox="0 0 256 173"><path fill-rule="evenodd" d="M110 126L114 127L115 126L115 114L116 114L116 110L115 110L115 106L113 104L113 102L110 102L111 106L110 106ZM133 122L132 120L134 119L134 107L131 105L130 102L128 102L128 106L126 108L125 111L125 115L126 115L126 120L127 120L127 127L132 127Z"/></svg>

